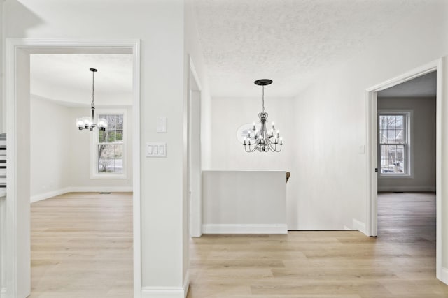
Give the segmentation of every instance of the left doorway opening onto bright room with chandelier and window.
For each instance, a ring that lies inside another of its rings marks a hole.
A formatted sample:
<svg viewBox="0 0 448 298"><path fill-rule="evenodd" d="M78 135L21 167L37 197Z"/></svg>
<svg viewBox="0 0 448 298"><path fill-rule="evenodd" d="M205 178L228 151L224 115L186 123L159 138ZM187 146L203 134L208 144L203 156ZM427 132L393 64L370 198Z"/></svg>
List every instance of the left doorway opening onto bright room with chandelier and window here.
<svg viewBox="0 0 448 298"><path fill-rule="evenodd" d="M132 59L30 54L33 296L133 294ZM107 127L79 130L92 98Z"/></svg>

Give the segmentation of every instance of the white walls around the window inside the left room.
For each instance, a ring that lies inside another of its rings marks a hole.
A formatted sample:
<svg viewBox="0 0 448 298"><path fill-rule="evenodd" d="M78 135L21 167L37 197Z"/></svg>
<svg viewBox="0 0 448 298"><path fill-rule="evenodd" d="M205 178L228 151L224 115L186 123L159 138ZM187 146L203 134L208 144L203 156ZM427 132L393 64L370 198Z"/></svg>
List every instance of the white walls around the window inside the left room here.
<svg viewBox="0 0 448 298"><path fill-rule="evenodd" d="M125 108L126 179L90 178L92 132L79 131L75 125L77 117L90 113L89 107L66 107L35 96L30 107L31 202L68 191L132 191L131 107Z"/></svg>

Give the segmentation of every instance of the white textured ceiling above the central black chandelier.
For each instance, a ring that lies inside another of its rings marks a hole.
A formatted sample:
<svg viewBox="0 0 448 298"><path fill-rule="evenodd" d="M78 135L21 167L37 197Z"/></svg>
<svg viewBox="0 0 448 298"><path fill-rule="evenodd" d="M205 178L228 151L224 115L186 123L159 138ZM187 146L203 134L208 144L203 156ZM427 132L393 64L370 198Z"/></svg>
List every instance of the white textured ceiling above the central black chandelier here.
<svg viewBox="0 0 448 298"><path fill-rule="evenodd" d="M349 59L423 9L419 0L195 0L212 96L295 96L313 75Z"/></svg>

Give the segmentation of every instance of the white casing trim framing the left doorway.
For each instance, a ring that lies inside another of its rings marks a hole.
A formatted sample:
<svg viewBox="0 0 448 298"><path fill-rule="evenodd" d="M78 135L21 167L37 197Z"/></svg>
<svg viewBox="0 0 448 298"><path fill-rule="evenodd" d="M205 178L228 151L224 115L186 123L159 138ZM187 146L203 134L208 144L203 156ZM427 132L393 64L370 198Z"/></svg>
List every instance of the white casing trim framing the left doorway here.
<svg viewBox="0 0 448 298"><path fill-rule="evenodd" d="M30 266L30 56L32 54L132 54L132 255L133 291L141 292L139 40L6 40L6 123L8 197L3 206L8 231L2 235L2 266L8 297L27 297ZM88 69L87 69L88 70ZM88 73L88 71L87 71ZM42 117L48 117L42 115ZM68 129L76 130L75 122ZM88 132L87 132L88 133ZM87 174L88 175L88 174Z"/></svg>

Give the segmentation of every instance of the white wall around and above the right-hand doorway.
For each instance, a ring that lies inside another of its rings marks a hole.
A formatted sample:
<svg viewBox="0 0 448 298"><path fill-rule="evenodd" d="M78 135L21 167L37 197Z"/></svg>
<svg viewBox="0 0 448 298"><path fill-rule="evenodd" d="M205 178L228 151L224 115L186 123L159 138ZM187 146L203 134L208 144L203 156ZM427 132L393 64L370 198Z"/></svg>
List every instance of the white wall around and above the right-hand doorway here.
<svg viewBox="0 0 448 298"><path fill-rule="evenodd" d="M293 172L301 182L294 193L295 223L301 230L365 228L367 179L366 89L448 54L446 1L430 1L426 10L409 15L379 40L349 61L328 66L314 84L297 96L295 105L295 153ZM446 61L446 59L445 59ZM446 86L442 86L446 90ZM441 119L448 118L446 96ZM442 130L446 123L442 124ZM446 131L441 136L447 135ZM446 155L447 138L441 140ZM447 158L442 156L442 175ZM446 177L441 177L445 181ZM439 186L437 186L439 187ZM448 195L441 196L447 212ZM446 216L444 216L446 218ZM446 231L442 260L448 265ZM448 271L445 281L448 281Z"/></svg>

